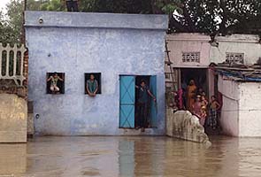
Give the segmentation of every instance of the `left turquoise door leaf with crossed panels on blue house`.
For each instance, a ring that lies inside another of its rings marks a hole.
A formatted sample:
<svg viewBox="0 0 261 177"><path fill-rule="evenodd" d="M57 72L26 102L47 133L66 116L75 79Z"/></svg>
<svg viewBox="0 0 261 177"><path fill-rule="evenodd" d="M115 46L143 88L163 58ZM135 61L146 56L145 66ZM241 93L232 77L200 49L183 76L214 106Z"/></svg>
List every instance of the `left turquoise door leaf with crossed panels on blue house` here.
<svg viewBox="0 0 261 177"><path fill-rule="evenodd" d="M134 127L135 77L119 76L119 127Z"/></svg>

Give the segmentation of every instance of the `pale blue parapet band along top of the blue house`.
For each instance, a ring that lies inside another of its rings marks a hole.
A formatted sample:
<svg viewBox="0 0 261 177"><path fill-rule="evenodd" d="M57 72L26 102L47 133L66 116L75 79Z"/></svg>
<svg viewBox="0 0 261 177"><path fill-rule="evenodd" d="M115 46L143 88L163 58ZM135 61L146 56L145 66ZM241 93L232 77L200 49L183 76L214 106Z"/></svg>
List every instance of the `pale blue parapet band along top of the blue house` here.
<svg viewBox="0 0 261 177"><path fill-rule="evenodd" d="M25 27L166 30L167 15L94 12L25 12Z"/></svg>

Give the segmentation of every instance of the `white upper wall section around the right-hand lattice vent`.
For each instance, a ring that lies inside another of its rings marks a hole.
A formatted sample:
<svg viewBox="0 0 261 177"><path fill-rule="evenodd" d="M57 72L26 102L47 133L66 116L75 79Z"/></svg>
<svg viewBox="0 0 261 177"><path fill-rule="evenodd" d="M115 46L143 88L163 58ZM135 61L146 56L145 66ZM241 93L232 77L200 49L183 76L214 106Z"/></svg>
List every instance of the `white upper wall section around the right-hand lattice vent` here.
<svg viewBox="0 0 261 177"><path fill-rule="evenodd" d="M222 63L226 61L226 52L244 53L246 65L257 63L261 58L261 44L258 35L226 35L217 36L219 47L211 46L210 62Z"/></svg>

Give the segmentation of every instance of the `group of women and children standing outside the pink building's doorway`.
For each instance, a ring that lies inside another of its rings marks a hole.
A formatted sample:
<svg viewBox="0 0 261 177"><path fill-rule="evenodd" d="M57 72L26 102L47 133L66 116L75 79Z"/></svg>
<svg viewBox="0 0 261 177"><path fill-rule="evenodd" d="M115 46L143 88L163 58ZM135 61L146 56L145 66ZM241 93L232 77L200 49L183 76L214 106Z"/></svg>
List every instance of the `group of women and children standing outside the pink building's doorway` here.
<svg viewBox="0 0 261 177"><path fill-rule="evenodd" d="M208 101L202 88L196 87L194 80L189 81L186 89L180 89L177 94L178 107L180 110L188 110L196 115L202 126L205 125L216 129L218 126L218 112L221 108L216 96L211 96ZM205 122L205 120L207 120Z"/></svg>

